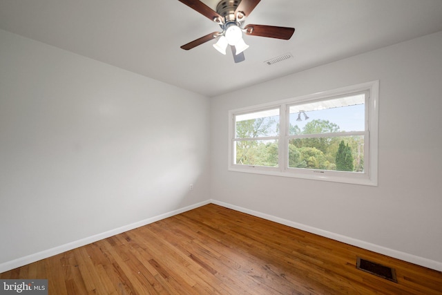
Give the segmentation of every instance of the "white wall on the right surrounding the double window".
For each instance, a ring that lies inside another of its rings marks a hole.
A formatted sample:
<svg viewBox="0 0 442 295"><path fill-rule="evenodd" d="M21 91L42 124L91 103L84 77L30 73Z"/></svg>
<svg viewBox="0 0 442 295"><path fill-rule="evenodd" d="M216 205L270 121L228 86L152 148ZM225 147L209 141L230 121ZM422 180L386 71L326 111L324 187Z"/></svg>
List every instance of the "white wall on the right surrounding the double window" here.
<svg viewBox="0 0 442 295"><path fill-rule="evenodd" d="M211 198L442 270L441 48L439 32L214 97ZM376 79L378 187L227 171L230 109Z"/></svg>

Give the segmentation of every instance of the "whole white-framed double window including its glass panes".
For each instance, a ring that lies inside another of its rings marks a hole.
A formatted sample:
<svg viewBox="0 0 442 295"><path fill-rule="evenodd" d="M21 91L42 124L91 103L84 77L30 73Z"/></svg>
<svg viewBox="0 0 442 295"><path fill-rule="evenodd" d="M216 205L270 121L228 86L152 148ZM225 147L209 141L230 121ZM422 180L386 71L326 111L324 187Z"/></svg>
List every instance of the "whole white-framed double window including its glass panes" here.
<svg viewBox="0 0 442 295"><path fill-rule="evenodd" d="M231 171L377 185L377 81L229 117Z"/></svg>

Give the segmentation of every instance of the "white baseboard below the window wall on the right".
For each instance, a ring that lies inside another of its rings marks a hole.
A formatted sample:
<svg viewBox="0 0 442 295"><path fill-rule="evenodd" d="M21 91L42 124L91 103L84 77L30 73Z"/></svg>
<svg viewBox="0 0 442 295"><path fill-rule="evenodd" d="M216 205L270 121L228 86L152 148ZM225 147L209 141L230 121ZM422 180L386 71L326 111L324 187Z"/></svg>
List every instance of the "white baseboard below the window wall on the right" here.
<svg viewBox="0 0 442 295"><path fill-rule="evenodd" d="M370 242L365 242L363 240L358 240L356 238L349 238L347 236L343 236L343 235L340 235L340 234L334 234L331 231L325 231L323 229L317 229L316 227L309 227L308 225L302 225L301 223L298 223L298 222L294 222L294 221L286 220L286 219L279 218L279 217L276 217L276 216L271 216L271 215L266 214L266 213L261 213L261 212L258 212L258 211L253 211L253 210L250 210L250 209L238 207L236 205L228 204L228 203L225 203L225 202L220 202L218 200L211 200L211 203L218 204L218 205L220 205L222 207L226 207L226 208L233 209L233 210L236 210L236 211L240 211L242 213L247 213L247 214L250 214L252 216L256 216L256 217L263 218L263 219L266 219L266 220L270 220L270 221L273 221L273 222L277 222L277 223L280 223L282 225L287 225L289 227L294 227L295 229L300 229L302 231L307 231L307 232L309 232L311 234L317 234L317 235L323 236L325 238L331 238L332 240L338 240L339 242L345 242L346 244L349 244L349 245L352 245L352 246L356 246L356 247L360 247L360 248L363 248L363 249L367 249L369 251L374 251L376 253L387 255L387 256L390 256L390 257L393 257L393 258L397 258L397 259L400 259L400 260L404 260L404 261L407 261L408 263L413 263L415 265L421 265L423 267L427 267L427 268L430 268L430 269L435 269L435 270L437 270L439 272L442 272L442 263L439 262L439 261L430 260L430 259L423 258L423 257L420 257L420 256L415 256L415 255L412 255L412 254L407 254L407 253L402 252L402 251L397 251L397 250L394 250L394 249L382 247L382 246L379 246L379 245L372 244Z"/></svg>

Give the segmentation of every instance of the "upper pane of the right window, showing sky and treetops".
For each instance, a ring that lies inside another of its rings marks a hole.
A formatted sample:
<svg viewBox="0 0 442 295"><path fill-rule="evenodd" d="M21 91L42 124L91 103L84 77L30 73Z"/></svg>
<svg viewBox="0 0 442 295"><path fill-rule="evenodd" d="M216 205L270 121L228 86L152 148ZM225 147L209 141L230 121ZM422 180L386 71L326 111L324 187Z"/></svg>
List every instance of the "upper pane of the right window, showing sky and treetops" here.
<svg viewBox="0 0 442 295"><path fill-rule="evenodd" d="M364 131L365 95L297 104L289 113L289 135Z"/></svg>

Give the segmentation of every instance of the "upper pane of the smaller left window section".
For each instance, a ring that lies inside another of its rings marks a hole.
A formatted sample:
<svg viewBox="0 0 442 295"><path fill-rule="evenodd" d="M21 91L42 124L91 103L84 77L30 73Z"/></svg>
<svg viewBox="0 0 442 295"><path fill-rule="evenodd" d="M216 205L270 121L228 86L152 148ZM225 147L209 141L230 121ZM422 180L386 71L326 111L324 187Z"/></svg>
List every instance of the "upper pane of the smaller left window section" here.
<svg viewBox="0 0 442 295"><path fill-rule="evenodd" d="M279 108L236 116L236 138L279 135Z"/></svg>

